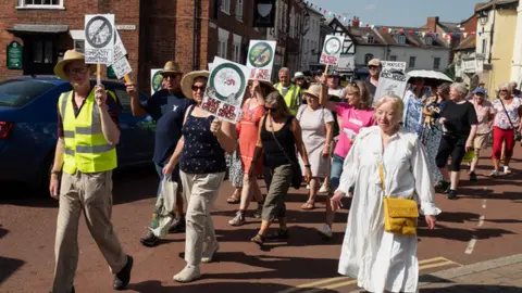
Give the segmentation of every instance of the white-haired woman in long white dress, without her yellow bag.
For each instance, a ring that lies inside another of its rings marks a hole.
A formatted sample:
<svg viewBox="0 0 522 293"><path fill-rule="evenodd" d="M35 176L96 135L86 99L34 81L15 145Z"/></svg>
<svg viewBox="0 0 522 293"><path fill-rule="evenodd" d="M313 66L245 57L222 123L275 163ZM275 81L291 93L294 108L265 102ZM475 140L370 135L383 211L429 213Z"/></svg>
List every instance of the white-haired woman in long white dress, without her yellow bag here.
<svg viewBox="0 0 522 293"><path fill-rule="evenodd" d="M399 97L385 95L378 101L377 126L361 129L331 200L335 207L341 206L341 199L355 186L338 271L375 293L417 292L419 280L417 235L384 230L383 196L415 200L428 229L435 228L435 216L440 213L424 149L415 133L399 125L403 109ZM384 167L384 190L378 164Z"/></svg>

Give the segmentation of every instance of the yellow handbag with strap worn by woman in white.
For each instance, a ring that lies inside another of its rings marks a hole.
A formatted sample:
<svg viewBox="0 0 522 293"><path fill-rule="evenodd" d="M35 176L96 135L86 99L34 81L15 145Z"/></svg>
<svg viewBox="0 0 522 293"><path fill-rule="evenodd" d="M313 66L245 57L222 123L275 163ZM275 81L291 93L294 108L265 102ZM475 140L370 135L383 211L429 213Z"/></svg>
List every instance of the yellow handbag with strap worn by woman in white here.
<svg viewBox="0 0 522 293"><path fill-rule="evenodd" d="M381 187L385 191L383 165L378 165L378 177L381 177ZM417 202L407 199L396 199L383 196L384 202L384 230L386 232L414 235L417 234L417 218L419 209Z"/></svg>

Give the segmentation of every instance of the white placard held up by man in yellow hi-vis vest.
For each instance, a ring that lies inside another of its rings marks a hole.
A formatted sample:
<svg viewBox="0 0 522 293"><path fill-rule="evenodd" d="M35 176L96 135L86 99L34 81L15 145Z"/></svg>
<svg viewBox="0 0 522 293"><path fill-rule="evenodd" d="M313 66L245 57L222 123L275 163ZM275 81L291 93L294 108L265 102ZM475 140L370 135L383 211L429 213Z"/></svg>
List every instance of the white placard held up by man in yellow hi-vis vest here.
<svg viewBox="0 0 522 293"><path fill-rule="evenodd" d="M85 15L85 63L112 64L114 34L114 14Z"/></svg>

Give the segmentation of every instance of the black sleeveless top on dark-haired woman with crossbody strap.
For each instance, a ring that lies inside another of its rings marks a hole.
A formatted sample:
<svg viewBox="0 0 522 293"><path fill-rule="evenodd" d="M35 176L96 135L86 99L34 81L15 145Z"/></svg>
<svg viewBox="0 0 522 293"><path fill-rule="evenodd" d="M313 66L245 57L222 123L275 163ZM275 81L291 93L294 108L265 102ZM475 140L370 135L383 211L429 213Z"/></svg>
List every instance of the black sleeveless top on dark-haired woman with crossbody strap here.
<svg viewBox="0 0 522 293"><path fill-rule="evenodd" d="M286 155L293 161L288 162L285 153L279 149L279 145L274 141L274 136L270 130L266 130L266 127L270 129L269 116L264 116L264 125L261 127L261 141L264 149L264 160L263 164L271 169L274 169L282 165L288 165L297 163L296 155L296 140L294 139L294 132L291 132L291 119L294 116L288 117L285 125L278 130L274 131L274 135L279 142L281 146L285 151Z"/></svg>

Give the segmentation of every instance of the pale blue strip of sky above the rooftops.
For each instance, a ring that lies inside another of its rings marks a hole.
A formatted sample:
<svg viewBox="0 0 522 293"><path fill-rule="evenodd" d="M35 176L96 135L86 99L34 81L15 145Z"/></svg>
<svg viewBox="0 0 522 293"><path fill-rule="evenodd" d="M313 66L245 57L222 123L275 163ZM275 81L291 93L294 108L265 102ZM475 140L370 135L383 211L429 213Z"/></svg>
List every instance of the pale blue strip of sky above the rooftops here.
<svg viewBox="0 0 522 293"><path fill-rule="evenodd" d="M304 0L323 11L359 16L366 24L420 27L428 16L439 22L460 23L473 14L476 3L488 0Z"/></svg>

